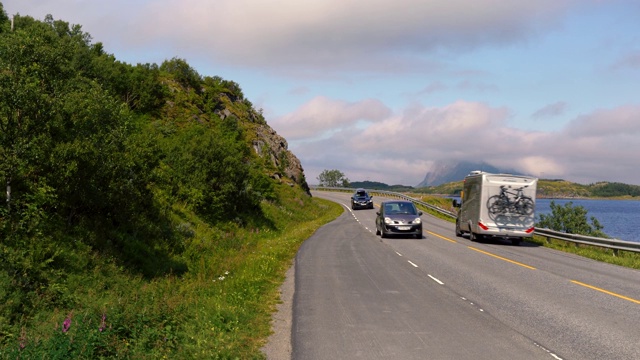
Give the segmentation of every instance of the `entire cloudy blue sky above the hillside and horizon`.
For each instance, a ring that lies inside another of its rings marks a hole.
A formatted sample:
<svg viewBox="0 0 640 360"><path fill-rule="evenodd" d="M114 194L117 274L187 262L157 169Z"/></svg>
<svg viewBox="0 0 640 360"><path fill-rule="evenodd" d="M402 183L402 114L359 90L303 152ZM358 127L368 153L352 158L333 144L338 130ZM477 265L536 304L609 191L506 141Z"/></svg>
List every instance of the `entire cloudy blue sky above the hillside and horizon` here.
<svg viewBox="0 0 640 360"><path fill-rule="evenodd" d="M0 0L117 60L237 82L301 161L415 186L457 161L640 185L640 1Z"/></svg>

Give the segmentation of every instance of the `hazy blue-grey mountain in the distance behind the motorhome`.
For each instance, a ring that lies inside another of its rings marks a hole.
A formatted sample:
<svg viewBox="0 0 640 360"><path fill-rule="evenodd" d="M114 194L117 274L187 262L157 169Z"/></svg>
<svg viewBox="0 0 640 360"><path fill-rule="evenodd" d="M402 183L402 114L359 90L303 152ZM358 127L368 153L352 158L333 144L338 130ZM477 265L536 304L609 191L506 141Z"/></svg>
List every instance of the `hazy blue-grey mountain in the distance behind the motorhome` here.
<svg viewBox="0 0 640 360"><path fill-rule="evenodd" d="M416 185L416 187L420 188L427 186L438 186L450 182L460 181L474 170L481 170L489 173L508 173L514 175L520 174L512 169L499 169L485 162L474 163L470 161L440 161L434 164L431 170L427 172L427 175L425 175L424 180L422 180L420 184Z"/></svg>

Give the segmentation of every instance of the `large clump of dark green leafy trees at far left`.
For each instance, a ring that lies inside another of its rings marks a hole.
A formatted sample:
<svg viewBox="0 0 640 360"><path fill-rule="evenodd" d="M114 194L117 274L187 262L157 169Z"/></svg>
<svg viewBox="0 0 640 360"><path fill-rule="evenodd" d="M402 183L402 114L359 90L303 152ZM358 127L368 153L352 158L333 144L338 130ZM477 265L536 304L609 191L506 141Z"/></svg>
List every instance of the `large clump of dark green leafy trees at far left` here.
<svg viewBox="0 0 640 360"><path fill-rule="evenodd" d="M50 16L15 22L14 31L0 32L0 184L7 189L0 253L16 249L6 266L28 274L30 284L17 288L37 289L46 288L39 271L67 236L88 232L82 242L119 252L132 244L154 249L170 235L158 236L162 220L149 187L157 146L138 134L136 118L102 80L113 68L94 66L101 55L90 36ZM35 243L50 251L19 251Z"/></svg>

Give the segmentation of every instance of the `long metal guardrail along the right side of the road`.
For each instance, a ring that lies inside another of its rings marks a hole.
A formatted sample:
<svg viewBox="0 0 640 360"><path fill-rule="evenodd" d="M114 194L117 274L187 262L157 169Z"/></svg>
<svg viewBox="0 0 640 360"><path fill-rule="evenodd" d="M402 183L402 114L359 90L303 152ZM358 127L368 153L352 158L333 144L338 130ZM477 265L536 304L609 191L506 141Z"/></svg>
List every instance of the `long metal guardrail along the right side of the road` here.
<svg viewBox="0 0 640 360"><path fill-rule="evenodd" d="M328 190L328 191L339 191L339 192L353 192L354 188L343 188L343 187L322 187L322 186L311 186L314 190ZM374 189L366 189L370 194L382 194L386 196L392 196L396 198L401 198L404 200L412 201L416 204L419 204L427 209L436 211L442 215L449 216L451 218L456 217L456 213L441 209L437 206L433 206L431 204L427 204L423 201L414 199L410 196L393 192L393 191L385 191L385 190L374 190ZM576 244L585 244L591 246L598 246L602 248L612 249L615 255L618 255L618 250L624 251L632 251L640 253L640 242L637 241L626 241L626 240L618 240L618 239L607 239L607 238L599 238L593 236L579 235L579 234L569 234L560 231L550 230L550 229L539 229L536 228L534 231L535 235L545 237L547 241L549 239L557 239L562 241L568 241Z"/></svg>

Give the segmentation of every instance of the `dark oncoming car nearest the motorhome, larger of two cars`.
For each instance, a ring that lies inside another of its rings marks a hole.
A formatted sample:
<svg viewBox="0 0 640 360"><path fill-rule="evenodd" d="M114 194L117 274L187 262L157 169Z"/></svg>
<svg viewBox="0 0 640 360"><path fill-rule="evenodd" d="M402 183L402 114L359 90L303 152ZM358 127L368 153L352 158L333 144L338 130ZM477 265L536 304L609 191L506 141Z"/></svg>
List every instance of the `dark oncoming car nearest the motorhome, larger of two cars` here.
<svg viewBox="0 0 640 360"><path fill-rule="evenodd" d="M383 201L376 214L376 235L413 235L422 239L422 211L411 201Z"/></svg>

